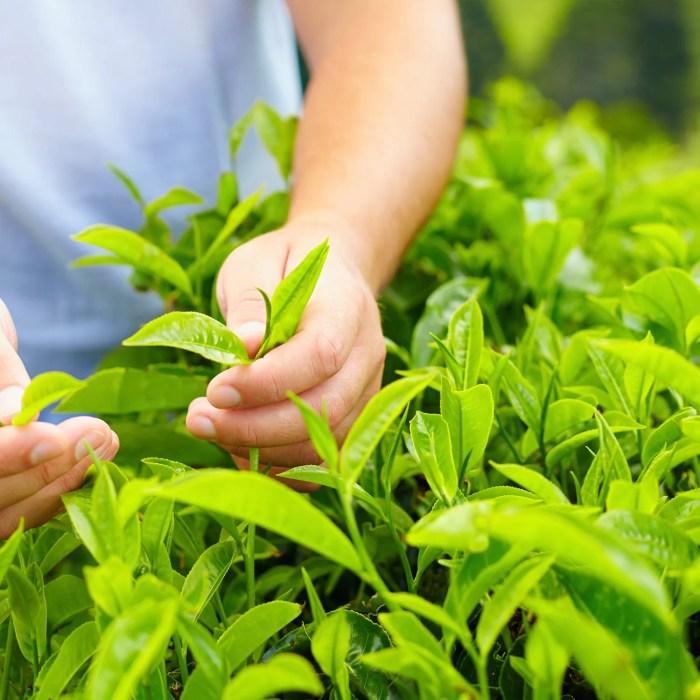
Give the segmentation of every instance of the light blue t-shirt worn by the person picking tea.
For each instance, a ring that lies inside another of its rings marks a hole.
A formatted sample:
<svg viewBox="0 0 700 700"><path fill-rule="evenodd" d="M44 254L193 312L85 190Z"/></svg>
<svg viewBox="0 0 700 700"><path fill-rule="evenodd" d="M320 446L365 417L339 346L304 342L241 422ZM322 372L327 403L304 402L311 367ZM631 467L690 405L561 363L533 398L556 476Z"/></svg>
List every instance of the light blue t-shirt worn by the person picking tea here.
<svg viewBox="0 0 700 700"><path fill-rule="evenodd" d="M300 107L281 0L0 2L0 298L32 376L85 376L162 311L126 269L69 269L100 252L70 235L142 222L106 164L147 200L184 186L211 203L230 170L228 129L256 99ZM237 174L243 193L279 186L253 136Z"/></svg>

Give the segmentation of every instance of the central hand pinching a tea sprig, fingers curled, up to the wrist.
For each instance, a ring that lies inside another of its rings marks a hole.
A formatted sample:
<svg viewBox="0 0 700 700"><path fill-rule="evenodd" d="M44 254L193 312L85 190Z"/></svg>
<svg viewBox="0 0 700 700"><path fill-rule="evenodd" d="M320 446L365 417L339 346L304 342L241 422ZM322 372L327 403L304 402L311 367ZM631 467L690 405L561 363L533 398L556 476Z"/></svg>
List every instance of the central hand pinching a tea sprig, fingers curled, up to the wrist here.
<svg viewBox="0 0 700 700"><path fill-rule="evenodd" d="M279 282L328 236L320 225L288 224L237 248L222 267L217 293L228 326L250 356L265 330L265 305ZM347 239L346 239L347 240ZM187 416L193 435L211 440L247 467L250 447L261 465L318 463L292 391L320 411L342 443L367 401L379 390L385 346L379 310L349 248L334 242L296 335L251 365L215 377L207 397Z"/></svg>

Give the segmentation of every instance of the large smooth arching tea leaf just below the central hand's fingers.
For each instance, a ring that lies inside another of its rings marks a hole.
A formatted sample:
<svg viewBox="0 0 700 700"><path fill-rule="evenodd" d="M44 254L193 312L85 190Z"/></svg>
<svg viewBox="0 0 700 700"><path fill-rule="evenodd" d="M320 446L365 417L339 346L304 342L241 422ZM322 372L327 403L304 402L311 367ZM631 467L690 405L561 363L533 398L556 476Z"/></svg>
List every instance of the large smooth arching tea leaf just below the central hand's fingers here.
<svg viewBox="0 0 700 700"><path fill-rule="evenodd" d="M362 571L350 540L308 500L267 476L206 469L153 490L154 495L248 520L312 549L351 571Z"/></svg>

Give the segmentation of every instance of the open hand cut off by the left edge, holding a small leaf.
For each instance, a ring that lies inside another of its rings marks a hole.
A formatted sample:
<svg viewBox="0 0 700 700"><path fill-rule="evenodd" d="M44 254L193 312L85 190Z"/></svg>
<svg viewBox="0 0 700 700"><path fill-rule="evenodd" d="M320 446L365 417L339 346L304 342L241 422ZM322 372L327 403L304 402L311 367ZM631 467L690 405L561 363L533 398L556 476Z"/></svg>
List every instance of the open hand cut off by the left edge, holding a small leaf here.
<svg viewBox="0 0 700 700"><path fill-rule="evenodd" d="M35 527L63 509L61 494L78 488L92 464L85 441L100 459L112 459L119 448L117 436L97 418L11 425L28 383L14 324L0 300L0 539L21 518L25 527Z"/></svg>

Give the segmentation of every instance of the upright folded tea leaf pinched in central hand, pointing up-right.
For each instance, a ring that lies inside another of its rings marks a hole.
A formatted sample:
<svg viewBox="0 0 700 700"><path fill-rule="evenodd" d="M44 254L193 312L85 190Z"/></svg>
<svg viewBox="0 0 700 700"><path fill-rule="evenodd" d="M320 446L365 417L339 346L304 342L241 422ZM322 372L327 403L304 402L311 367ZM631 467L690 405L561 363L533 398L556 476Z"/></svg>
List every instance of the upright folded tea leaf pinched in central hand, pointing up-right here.
<svg viewBox="0 0 700 700"><path fill-rule="evenodd" d="M270 303L269 333L256 357L286 343L297 330L328 256L328 240L316 246L278 285Z"/></svg>

